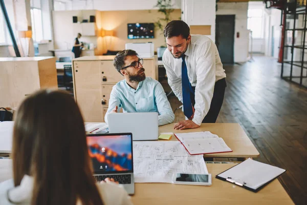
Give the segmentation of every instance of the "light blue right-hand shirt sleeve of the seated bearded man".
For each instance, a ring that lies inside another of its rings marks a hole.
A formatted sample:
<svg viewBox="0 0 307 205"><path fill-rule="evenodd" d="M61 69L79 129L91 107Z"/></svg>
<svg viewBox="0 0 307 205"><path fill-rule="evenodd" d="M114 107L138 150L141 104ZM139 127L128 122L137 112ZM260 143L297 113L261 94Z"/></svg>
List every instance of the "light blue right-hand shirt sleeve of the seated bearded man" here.
<svg viewBox="0 0 307 205"><path fill-rule="evenodd" d="M154 89L155 101L159 112L159 126L169 124L174 121L175 115L172 112L165 91L159 82Z"/></svg>

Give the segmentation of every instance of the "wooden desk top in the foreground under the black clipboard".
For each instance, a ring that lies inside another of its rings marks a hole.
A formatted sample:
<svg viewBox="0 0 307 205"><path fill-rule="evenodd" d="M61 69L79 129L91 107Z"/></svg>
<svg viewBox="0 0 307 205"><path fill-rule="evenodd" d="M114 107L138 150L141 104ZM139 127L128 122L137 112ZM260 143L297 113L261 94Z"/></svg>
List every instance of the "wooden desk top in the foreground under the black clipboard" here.
<svg viewBox="0 0 307 205"><path fill-rule="evenodd" d="M294 204L275 179L257 193L215 179L215 175L235 164L206 164L212 174L211 186L174 185L170 183L136 183L135 195L131 197L138 204Z"/></svg>

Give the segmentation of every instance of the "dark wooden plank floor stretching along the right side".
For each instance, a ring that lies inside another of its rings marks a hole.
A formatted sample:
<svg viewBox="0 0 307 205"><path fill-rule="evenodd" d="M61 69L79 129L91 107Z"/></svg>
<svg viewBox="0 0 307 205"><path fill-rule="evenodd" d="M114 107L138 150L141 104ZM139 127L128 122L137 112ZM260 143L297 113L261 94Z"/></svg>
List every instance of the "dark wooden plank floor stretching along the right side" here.
<svg viewBox="0 0 307 205"><path fill-rule="evenodd" d="M279 177L284 189L295 204L307 204L307 90L282 80L274 58L255 56L224 69L227 89L217 122L240 124L260 153L255 159L286 169ZM173 110L181 105L174 96L169 100ZM175 122L184 119L181 110L175 115Z"/></svg>

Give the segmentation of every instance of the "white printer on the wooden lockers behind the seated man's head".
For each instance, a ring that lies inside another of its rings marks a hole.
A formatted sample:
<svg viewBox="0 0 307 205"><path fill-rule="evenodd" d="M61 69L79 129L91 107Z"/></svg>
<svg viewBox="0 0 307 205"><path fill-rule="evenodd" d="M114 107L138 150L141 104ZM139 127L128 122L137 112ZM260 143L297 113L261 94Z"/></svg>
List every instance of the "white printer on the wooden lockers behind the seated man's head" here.
<svg viewBox="0 0 307 205"><path fill-rule="evenodd" d="M125 49L136 51L140 58L150 58L154 55L153 43L127 43Z"/></svg>

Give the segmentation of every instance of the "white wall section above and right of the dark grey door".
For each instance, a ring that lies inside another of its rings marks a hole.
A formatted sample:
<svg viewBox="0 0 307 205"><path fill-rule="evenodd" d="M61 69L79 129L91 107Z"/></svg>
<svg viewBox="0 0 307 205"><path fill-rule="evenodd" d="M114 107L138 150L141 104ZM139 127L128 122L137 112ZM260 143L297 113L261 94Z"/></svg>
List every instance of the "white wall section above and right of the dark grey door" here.
<svg viewBox="0 0 307 205"><path fill-rule="evenodd" d="M234 61L245 62L248 56L247 30L248 3L217 3L216 15L235 15L234 22ZM239 37L236 33L239 32Z"/></svg>

